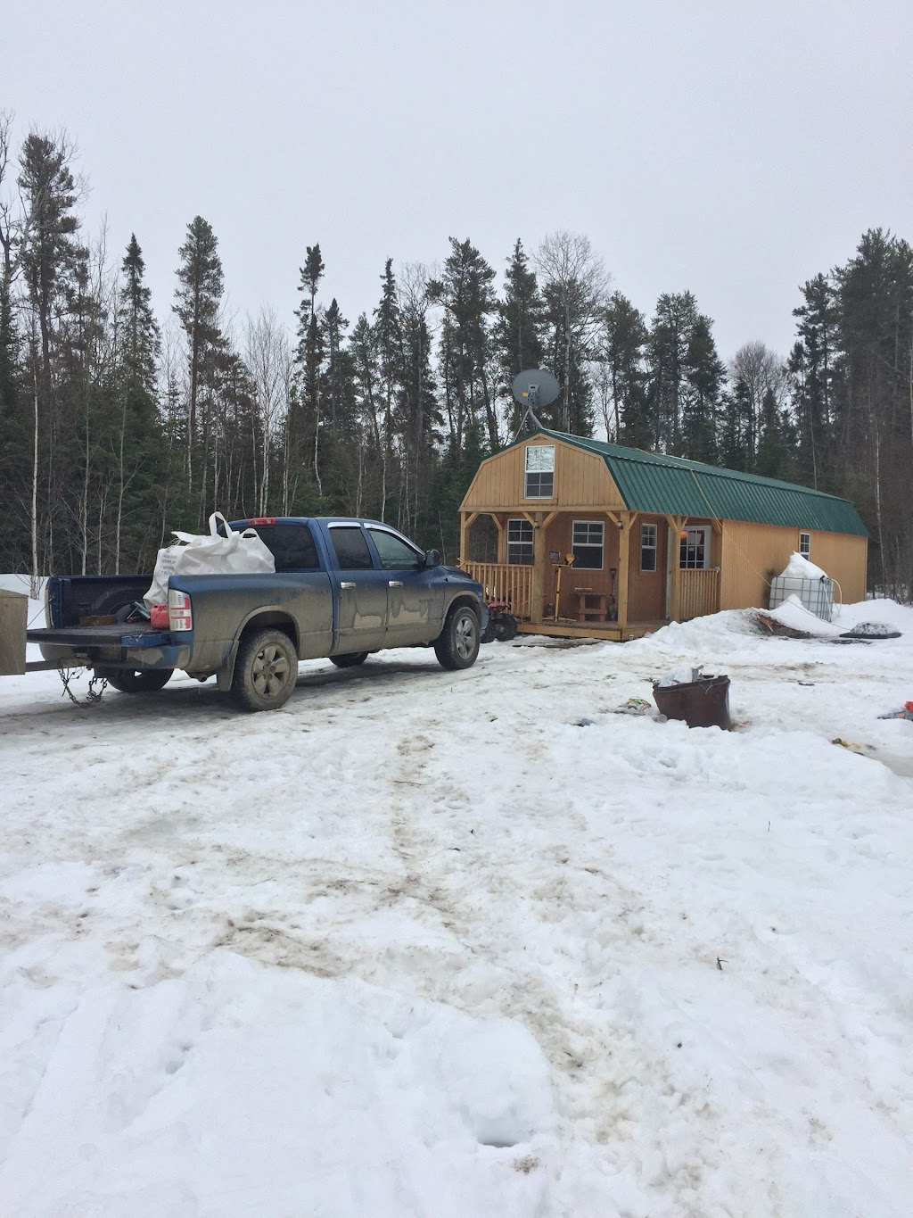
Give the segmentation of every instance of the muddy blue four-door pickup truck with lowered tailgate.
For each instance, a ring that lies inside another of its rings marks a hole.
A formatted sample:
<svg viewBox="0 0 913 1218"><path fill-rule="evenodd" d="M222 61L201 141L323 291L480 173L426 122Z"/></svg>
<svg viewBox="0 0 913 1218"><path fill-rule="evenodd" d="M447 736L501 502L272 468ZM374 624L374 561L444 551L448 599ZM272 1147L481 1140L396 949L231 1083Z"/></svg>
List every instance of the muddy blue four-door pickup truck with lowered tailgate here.
<svg viewBox="0 0 913 1218"><path fill-rule="evenodd" d="M27 631L44 657L34 666L90 667L124 693L161 689L175 669L214 675L256 711L289 700L298 660L352 667L382 648L431 646L444 669L475 664L482 586L437 551L376 520L259 516L231 527L257 530L275 572L172 575L167 628L131 620L149 575L51 576L47 628Z"/></svg>

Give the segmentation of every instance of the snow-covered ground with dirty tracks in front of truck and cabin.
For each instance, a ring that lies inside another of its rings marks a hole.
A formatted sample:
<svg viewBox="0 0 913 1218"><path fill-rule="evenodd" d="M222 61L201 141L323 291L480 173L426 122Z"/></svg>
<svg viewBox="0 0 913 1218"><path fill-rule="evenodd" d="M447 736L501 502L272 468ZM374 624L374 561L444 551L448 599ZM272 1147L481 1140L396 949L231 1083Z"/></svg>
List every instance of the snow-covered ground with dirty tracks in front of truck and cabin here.
<svg viewBox="0 0 913 1218"><path fill-rule="evenodd" d="M872 620L314 661L265 715L0 678L0 1213L906 1218L913 610ZM690 664L735 731L617 714Z"/></svg>

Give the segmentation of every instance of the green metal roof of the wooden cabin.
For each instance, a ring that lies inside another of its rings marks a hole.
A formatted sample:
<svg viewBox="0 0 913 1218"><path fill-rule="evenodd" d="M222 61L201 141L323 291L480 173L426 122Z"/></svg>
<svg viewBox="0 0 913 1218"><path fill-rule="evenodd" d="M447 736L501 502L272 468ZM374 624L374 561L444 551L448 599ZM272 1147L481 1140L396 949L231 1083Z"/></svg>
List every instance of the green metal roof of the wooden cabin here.
<svg viewBox="0 0 913 1218"><path fill-rule="evenodd" d="M751 520L763 525L868 536L853 504L836 495L824 495L795 482L780 482L773 477L705 465L683 457L665 457L640 448L624 448L600 440L571 436L564 431L549 431L545 428L533 435L561 440L601 457L632 512ZM515 443L530 438L522 436Z"/></svg>

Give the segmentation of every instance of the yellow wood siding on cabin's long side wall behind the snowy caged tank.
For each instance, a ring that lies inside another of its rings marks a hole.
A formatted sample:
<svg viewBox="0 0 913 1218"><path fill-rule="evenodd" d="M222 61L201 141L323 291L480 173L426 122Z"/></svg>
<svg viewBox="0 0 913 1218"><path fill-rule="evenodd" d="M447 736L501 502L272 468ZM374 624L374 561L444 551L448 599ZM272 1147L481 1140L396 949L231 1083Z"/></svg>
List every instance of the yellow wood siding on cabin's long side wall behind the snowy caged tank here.
<svg viewBox="0 0 913 1218"><path fill-rule="evenodd" d="M848 533L811 532L811 561L840 585L842 599L866 599L868 541ZM766 609L769 581L799 549L799 529L723 521L721 609Z"/></svg>

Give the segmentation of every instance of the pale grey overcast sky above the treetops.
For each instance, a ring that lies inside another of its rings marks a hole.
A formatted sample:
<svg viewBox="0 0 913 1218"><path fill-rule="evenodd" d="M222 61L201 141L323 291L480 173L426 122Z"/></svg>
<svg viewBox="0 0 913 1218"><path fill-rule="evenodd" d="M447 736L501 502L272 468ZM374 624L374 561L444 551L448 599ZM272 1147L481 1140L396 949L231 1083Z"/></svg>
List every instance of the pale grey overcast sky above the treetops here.
<svg viewBox="0 0 913 1218"><path fill-rule="evenodd" d="M867 228L913 240L913 4L324 0L5 6L0 108L66 128L159 313L187 222L239 317L289 324L304 247L354 322L383 262L589 236L648 315L693 291L729 358Z"/></svg>

